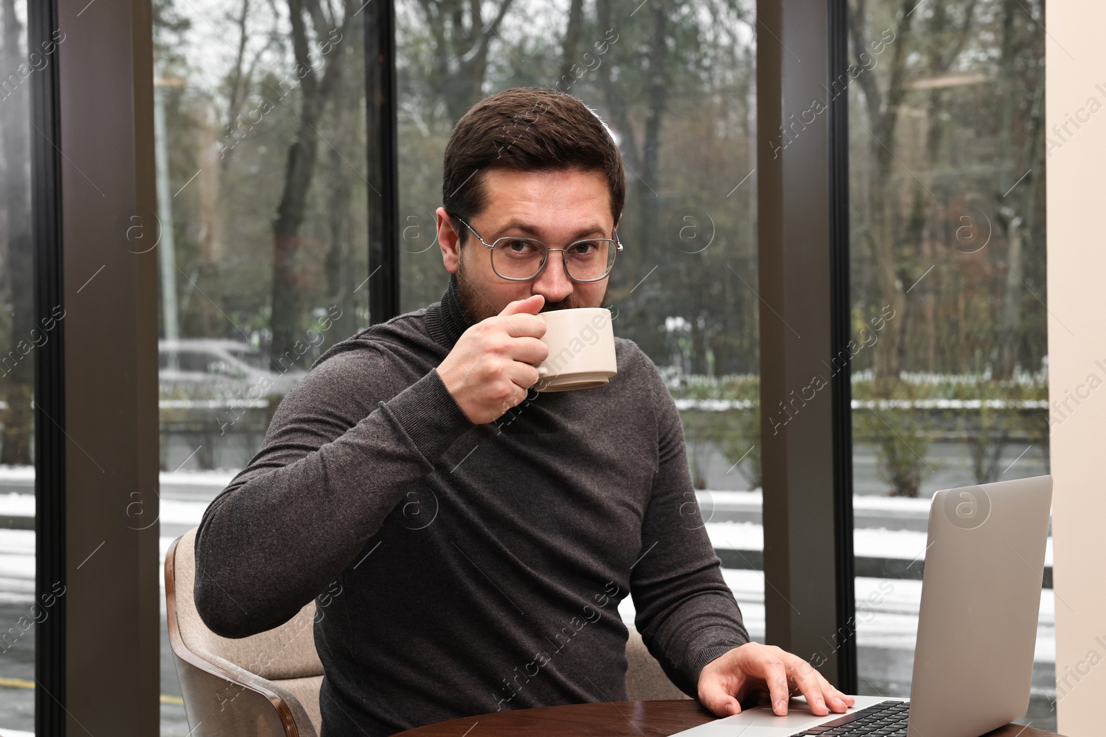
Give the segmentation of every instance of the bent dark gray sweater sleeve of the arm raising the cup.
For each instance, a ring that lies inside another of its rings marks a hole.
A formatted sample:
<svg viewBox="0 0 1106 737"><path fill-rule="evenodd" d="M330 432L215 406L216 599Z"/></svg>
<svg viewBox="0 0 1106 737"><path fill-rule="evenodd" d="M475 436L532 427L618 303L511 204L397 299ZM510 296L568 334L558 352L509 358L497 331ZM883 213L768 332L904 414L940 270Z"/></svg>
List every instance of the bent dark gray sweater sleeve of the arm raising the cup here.
<svg viewBox="0 0 1106 737"><path fill-rule="evenodd" d="M404 495L476 427L437 369L375 407L375 350L316 365L281 402L261 451L204 514L196 607L217 634L286 622L337 579Z"/></svg>

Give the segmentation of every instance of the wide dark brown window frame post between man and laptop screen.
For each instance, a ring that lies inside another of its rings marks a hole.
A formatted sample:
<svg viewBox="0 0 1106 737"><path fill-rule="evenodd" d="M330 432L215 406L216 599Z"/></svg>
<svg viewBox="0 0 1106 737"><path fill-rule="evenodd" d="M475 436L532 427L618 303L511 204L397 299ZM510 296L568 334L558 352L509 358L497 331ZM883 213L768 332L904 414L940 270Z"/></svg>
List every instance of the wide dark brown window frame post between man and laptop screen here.
<svg viewBox="0 0 1106 737"><path fill-rule="evenodd" d="M847 12L847 0L758 0L771 31L757 44L759 131L782 133L844 72ZM762 408L789 406L848 355L847 104L831 99L786 146L757 141L759 287L772 306L761 310ZM828 386L782 433L761 412L766 639L856 693L848 371L831 371Z"/></svg>

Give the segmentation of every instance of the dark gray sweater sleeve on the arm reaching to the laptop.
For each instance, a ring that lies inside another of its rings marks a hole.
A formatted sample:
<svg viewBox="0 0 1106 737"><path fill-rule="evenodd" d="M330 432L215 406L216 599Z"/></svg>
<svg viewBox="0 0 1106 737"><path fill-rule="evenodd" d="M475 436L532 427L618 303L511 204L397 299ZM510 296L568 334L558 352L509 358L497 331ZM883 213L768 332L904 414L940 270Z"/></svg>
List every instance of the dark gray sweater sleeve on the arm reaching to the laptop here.
<svg viewBox="0 0 1106 737"><path fill-rule="evenodd" d="M699 513L676 403L643 359L651 375L658 466L641 523L641 557L630 572L634 624L669 680L696 698L703 666L749 642L749 633Z"/></svg>

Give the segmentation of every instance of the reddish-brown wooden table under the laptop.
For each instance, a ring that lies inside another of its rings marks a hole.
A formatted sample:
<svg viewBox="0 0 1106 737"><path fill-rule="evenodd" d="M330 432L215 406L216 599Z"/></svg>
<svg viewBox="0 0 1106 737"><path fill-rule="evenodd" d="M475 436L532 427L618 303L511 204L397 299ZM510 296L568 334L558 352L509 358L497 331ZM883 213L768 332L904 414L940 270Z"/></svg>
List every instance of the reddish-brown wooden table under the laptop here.
<svg viewBox="0 0 1106 737"><path fill-rule="evenodd" d="M403 737L667 737L716 718L698 701L568 704L497 712L428 724ZM1052 731L1010 724L988 737L1060 737Z"/></svg>

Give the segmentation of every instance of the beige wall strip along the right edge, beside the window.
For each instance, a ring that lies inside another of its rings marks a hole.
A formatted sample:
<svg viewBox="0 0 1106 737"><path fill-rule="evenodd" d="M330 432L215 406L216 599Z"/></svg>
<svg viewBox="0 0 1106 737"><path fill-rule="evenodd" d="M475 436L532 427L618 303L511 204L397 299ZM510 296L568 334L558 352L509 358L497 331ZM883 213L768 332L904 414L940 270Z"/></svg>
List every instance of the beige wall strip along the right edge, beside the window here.
<svg viewBox="0 0 1106 737"><path fill-rule="evenodd" d="M1045 28L1057 731L1099 737L1106 734L1106 2L1050 2Z"/></svg>

